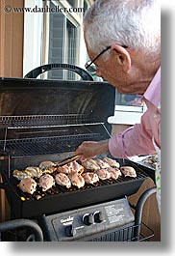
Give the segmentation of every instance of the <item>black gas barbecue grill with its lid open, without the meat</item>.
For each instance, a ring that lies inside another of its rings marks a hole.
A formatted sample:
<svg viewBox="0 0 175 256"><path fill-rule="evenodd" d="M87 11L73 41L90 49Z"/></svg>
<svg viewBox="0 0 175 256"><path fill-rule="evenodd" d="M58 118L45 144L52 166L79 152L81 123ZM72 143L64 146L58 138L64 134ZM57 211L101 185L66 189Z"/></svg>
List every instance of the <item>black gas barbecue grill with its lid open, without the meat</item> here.
<svg viewBox="0 0 175 256"><path fill-rule="evenodd" d="M81 80L37 79L41 72L63 68L76 71ZM73 156L83 141L109 139L114 95L107 82L92 81L87 71L68 65L42 66L25 78L0 78L0 188L6 191L12 219L34 220L45 241L139 239L142 206L135 218L127 196L137 192L147 175L128 159L117 161L135 167L137 178L109 179L82 188L55 185L29 195L19 190L13 177L14 169ZM0 232L4 230L0 226Z"/></svg>

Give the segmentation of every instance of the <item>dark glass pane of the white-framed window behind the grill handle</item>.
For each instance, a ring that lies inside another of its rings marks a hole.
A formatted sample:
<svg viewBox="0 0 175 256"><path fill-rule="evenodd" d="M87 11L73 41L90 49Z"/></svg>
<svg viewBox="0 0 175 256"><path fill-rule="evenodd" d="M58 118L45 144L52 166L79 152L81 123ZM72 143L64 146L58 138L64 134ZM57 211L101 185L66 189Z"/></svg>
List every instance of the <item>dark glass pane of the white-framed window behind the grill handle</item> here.
<svg viewBox="0 0 175 256"><path fill-rule="evenodd" d="M51 7L54 7L51 2ZM49 63L65 63L78 65L78 30L66 15L50 14L49 16ZM73 71L54 70L48 71L50 79L80 79L80 76Z"/></svg>

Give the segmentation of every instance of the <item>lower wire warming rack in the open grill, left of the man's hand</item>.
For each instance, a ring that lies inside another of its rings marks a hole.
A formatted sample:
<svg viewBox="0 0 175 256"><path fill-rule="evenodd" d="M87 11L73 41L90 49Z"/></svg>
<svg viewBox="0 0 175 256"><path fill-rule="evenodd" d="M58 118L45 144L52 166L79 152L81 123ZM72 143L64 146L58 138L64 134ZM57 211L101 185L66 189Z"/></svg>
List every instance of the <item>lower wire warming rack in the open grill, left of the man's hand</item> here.
<svg viewBox="0 0 175 256"><path fill-rule="evenodd" d="M102 139L99 133L66 135L39 138L23 138L6 140L6 152L10 156L35 156L75 151L86 140ZM0 141L3 150L4 141Z"/></svg>

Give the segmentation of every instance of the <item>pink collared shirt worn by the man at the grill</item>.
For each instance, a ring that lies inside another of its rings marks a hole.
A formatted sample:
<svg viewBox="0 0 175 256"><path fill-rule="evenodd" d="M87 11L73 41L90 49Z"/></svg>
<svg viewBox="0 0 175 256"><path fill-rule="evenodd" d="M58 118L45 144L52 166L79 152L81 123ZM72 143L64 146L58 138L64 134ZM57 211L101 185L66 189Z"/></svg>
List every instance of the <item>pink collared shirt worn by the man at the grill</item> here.
<svg viewBox="0 0 175 256"><path fill-rule="evenodd" d="M153 138L161 149L161 68L144 93L142 100L147 110L142 115L140 124L127 128L109 142L113 157L130 157L155 154Z"/></svg>

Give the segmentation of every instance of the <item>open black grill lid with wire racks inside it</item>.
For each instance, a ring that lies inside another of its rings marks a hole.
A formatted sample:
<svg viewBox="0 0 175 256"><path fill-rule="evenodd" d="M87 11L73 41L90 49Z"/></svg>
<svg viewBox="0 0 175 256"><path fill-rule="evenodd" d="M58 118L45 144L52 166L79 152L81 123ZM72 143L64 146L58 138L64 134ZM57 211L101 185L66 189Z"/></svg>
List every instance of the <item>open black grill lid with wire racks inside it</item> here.
<svg viewBox="0 0 175 256"><path fill-rule="evenodd" d="M114 98L115 90L106 82L0 78L0 150L30 155L25 145L36 139L34 145L45 145L43 154L53 154L48 147L53 143L76 141L69 148L74 151L84 140L107 139Z"/></svg>

